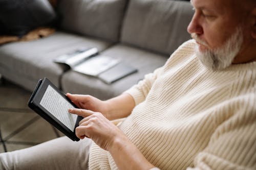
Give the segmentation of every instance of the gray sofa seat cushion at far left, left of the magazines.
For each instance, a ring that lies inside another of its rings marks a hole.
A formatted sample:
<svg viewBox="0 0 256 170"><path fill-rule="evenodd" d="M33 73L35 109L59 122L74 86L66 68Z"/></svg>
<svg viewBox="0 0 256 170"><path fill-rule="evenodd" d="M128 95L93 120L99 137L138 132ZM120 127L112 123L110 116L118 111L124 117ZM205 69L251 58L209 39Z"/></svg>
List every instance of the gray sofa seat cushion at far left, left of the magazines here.
<svg viewBox="0 0 256 170"><path fill-rule="evenodd" d="M62 32L36 41L5 44L0 46L0 74L28 90L33 90L37 80L44 77L60 87L60 77L67 67L54 63L54 58L80 47L97 47L102 51L110 45L105 41Z"/></svg>

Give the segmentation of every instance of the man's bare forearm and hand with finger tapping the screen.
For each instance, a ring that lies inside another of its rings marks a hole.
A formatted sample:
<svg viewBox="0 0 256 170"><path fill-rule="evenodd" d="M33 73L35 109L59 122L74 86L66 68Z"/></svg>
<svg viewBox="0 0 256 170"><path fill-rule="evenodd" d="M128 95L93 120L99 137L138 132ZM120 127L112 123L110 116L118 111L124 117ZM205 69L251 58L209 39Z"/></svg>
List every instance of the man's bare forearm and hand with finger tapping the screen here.
<svg viewBox="0 0 256 170"><path fill-rule="evenodd" d="M80 139L91 138L100 148L109 151L119 169L151 169L154 167L136 146L100 112L69 109L70 113L84 117L76 127Z"/></svg>

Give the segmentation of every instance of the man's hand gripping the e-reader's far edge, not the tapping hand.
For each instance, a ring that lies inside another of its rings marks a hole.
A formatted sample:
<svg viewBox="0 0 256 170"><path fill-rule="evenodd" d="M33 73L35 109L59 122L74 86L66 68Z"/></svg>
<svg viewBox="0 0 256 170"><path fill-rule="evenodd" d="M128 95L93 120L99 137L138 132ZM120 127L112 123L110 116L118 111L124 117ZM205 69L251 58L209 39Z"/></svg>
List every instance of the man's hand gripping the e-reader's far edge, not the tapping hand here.
<svg viewBox="0 0 256 170"><path fill-rule="evenodd" d="M108 102L101 101L91 95L66 94L68 98L79 108L102 113L106 118L109 115Z"/></svg>

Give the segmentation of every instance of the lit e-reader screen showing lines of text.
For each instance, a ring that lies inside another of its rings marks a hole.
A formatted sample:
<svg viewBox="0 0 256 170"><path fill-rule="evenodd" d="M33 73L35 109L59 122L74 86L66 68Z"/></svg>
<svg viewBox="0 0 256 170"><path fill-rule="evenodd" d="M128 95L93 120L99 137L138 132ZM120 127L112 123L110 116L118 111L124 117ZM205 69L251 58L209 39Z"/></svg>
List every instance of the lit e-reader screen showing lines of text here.
<svg viewBox="0 0 256 170"><path fill-rule="evenodd" d="M77 115L68 112L69 108L74 107L50 85L47 87L44 96L42 96L40 105L74 132Z"/></svg>

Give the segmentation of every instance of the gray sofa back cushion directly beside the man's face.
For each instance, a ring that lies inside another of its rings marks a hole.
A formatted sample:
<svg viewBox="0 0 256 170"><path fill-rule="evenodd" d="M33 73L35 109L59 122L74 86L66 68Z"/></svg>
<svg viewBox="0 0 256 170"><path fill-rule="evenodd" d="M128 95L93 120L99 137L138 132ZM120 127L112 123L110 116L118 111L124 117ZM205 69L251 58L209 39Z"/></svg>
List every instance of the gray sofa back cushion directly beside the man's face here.
<svg viewBox="0 0 256 170"><path fill-rule="evenodd" d="M164 54L172 54L190 38L186 31L192 6L185 1L131 0L121 41Z"/></svg>

